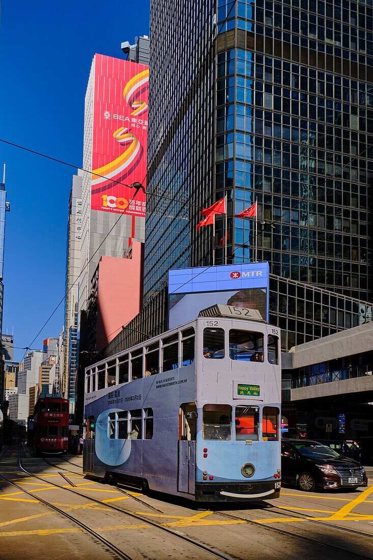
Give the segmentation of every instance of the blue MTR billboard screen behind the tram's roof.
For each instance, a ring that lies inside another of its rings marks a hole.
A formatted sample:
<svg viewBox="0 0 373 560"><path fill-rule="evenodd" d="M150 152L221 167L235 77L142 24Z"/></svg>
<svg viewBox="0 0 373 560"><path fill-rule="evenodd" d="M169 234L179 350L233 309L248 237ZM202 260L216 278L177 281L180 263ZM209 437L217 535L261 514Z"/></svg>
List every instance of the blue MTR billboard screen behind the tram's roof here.
<svg viewBox="0 0 373 560"><path fill-rule="evenodd" d="M169 270L169 329L215 304L258 309L268 323L268 263Z"/></svg>

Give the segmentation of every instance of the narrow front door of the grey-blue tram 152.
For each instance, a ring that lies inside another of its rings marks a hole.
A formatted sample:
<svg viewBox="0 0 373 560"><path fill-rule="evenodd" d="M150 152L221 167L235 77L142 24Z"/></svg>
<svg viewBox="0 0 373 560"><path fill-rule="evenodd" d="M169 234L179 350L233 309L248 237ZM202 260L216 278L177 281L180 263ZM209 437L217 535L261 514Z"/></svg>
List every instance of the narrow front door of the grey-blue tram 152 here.
<svg viewBox="0 0 373 560"><path fill-rule="evenodd" d="M184 403L179 412L178 492L194 494L197 407Z"/></svg>

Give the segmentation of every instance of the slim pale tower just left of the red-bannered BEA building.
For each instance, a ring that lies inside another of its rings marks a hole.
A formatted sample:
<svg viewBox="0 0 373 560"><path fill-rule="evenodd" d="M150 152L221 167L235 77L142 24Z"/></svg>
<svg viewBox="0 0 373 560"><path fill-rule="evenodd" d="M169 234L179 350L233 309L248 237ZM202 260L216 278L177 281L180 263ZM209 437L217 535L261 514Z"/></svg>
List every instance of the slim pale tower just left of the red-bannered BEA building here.
<svg viewBox="0 0 373 560"><path fill-rule="evenodd" d="M78 290L80 273L80 248L82 231L82 171L73 175L69 196L67 251L66 251L66 297L64 302L65 323L63 328L63 360L60 364L60 393L75 402L75 376L78 326Z"/></svg>

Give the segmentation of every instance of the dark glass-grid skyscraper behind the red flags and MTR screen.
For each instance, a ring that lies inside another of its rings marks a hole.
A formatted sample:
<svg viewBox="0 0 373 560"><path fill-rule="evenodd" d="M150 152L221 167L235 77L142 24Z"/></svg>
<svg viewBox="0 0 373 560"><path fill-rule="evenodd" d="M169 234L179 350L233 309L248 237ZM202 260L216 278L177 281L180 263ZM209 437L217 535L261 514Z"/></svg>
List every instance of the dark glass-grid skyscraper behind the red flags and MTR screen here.
<svg viewBox="0 0 373 560"><path fill-rule="evenodd" d="M372 0L151 2L144 310L166 328L167 270L258 260L283 348L372 320ZM158 198L160 195L161 198ZM223 219L196 230L227 195ZM290 333L290 334L289 334ZM118 335L112 347L133 343Z"/></svg>

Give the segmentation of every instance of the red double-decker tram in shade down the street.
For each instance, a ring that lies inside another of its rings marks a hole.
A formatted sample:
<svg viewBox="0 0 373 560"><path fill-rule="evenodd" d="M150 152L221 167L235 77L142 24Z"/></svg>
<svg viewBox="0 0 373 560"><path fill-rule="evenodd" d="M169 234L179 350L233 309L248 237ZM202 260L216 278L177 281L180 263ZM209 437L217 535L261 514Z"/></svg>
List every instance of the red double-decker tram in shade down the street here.
<svg viewBox="0 0 373 560"><path fill-rule="evenodd" d="M67 399L46 396L34 408L34 452L61 454L67 452L69 430L69 402Z"/></svg>

